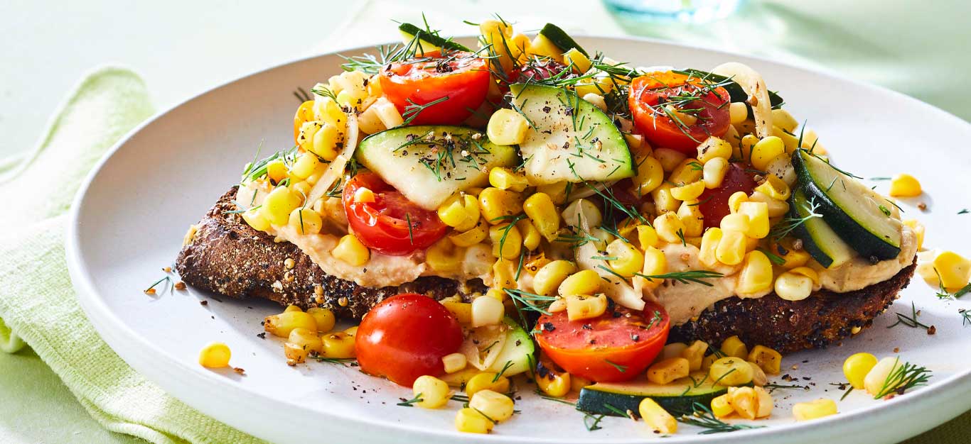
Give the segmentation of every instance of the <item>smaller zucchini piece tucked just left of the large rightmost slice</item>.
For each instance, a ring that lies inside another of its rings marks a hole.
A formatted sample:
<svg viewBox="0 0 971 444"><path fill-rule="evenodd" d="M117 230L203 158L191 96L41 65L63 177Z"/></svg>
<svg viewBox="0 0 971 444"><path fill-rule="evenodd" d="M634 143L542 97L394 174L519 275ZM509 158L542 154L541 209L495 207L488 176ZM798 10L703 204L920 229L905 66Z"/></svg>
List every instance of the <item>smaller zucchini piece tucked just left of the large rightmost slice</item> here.
<svg viewBox="0 0 971 444"><path fill-rule="evenodd" d="M802 189L796 188L789 198L789 217L803 219L813 211L816 201L806 199ZM827 269L839 267L854 257L854 250L836 235L826 221L820 217L810 217L792 230L796 238L802 239L803 248Z"/></svg>

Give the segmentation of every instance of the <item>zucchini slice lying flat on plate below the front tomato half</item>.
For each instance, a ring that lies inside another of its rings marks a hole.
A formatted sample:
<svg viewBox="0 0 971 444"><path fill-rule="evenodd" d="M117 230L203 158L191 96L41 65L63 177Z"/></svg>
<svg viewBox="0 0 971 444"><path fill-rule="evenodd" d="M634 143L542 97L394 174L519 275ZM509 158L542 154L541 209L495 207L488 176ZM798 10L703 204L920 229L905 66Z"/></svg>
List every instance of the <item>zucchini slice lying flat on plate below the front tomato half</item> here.
<svg viewBox="0 0 971 444"><path fill-rule="evenodd" d="M616 407L621 412L636 412L641 400L650 397L672 415L688 413L692 411L691 407L695 402L711 405L712 399L728 393L727 387L712 384L713 382L704 371L664 385L645 380L598 382L580 390L577 410L594 415L618 416L610 407Z"/></svg>

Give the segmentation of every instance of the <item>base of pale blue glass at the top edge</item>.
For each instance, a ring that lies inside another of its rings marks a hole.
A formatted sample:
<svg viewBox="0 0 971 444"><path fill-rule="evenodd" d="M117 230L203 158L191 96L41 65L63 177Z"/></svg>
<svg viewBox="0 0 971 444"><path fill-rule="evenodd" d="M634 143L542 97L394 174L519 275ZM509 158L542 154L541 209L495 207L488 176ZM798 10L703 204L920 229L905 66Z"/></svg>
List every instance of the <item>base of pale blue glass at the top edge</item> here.
<svg viewBox="0 0 971 444"><path fill-rule="evenodd" d="M623 18L638 21L705 23L730 16L743 0L604 0Z"/></svg>

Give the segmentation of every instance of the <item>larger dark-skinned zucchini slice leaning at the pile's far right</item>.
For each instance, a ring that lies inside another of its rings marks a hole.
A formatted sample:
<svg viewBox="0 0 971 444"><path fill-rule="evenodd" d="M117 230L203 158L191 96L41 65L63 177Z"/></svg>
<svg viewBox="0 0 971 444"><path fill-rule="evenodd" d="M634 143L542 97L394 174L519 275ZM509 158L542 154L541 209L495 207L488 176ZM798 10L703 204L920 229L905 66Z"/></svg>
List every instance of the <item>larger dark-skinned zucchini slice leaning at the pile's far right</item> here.
<svg viewBox="0 0 971 444"><path fill-rule="evenodd" d="M886 261L900 254L900 221L890 217L886 201L869 188L805 149L792 154L792 167L806 198L814 200L822 220L857 253Z"/></svg>

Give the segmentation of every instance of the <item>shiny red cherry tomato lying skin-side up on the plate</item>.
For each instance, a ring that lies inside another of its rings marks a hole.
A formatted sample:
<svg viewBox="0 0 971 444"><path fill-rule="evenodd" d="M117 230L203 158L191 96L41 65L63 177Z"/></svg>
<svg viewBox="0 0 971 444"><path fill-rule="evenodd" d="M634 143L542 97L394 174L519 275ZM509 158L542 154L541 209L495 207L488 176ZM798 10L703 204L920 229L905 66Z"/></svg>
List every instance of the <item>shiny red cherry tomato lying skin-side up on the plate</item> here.
<svg viewBox="0 0 971 444"><path fill-rule="evenodd" d="M462 344L462 329L444 305L416 293L377 304L354 336L357 364L365 373L411 387L421 375L445 372L442 357Z"/></svg>

